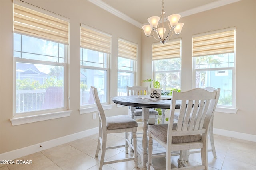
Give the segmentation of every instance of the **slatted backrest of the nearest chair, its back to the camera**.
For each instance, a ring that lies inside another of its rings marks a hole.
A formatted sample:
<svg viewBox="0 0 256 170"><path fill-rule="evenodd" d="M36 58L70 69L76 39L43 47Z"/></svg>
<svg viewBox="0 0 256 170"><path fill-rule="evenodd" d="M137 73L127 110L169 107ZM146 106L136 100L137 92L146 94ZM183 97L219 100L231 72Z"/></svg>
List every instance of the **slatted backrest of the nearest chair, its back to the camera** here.
<svg viewBox="0 0 256 170"><path fill-rule="evenodd" d="M212 92L200 88L180 93L174 91L168 121L168 141L172 140L172 136L207 134L219 95L220 89ZM181 104L179 117L174 122L177 100Z"/></svg>

